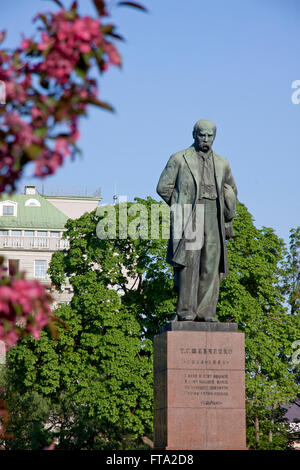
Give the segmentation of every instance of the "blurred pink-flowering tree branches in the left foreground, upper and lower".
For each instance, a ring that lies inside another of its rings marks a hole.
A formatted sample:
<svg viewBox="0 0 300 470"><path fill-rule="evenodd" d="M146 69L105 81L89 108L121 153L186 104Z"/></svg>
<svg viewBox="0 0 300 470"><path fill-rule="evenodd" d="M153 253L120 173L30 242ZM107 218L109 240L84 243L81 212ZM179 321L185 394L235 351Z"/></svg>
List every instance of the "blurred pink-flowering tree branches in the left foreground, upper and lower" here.
<svg viewBox="0 0 300 470"><path fill-rule="evenodd" d="M23 38L15 50L0 50L0 80L6 89L6 104L0 107L0 193L15 190L30 162L35 176L43 178L74 156L79 119L89 105L112 110L99 99L97 77L92 76L95 65L100 75L121 65L111 41L122 38L114 25L103 22L108 17L105 1L92 0L94 18L81 16L76 1L69 9L53 1L59 11L37 14L34 37ZM119 5L145 10L134 2ZM2 32L0 43L4 39ZM38 337L51 318L44 287L0 269L0 340L13 345L21 330Z"/></svg>

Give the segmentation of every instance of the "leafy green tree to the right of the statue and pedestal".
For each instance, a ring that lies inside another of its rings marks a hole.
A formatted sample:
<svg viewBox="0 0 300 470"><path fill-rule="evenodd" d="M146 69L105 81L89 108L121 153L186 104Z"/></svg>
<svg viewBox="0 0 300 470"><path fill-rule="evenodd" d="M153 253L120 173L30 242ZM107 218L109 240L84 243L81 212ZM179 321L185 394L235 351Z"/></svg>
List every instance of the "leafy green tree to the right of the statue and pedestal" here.
<svg viewBox="0 0 300 470"><path fill-rule="evenodd" d="M291 357L293 342L300 338L300 318L287 313L280 288L285 246L272 229L258 230L241 203L234 229L236 236L227 244L230 274L221 286L219 320L235 321L245 332L249 446L281 448L287 434L280 404L299 391ZM281 439L276 437L279 430Z"/></svg>

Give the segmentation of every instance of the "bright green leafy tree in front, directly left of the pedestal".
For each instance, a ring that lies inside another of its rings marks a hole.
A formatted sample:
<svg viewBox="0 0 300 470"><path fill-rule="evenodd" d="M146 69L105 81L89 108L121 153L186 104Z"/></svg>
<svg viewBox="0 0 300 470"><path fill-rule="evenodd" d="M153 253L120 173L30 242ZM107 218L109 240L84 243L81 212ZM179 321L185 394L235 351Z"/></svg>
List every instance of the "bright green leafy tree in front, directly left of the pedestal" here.
<svg viewBox="0 0 300 470"><path fill-rule="evenodd" d="M63 267L74 289L71 305L56 311L59 339L42 332L9 354L15 390L51 400L57 448L122 448L152 428L152 345L110 288L124 282L122 257L98 243L95 221L95 213L70 220L70 250L53 259L51 269Z"/></svg>

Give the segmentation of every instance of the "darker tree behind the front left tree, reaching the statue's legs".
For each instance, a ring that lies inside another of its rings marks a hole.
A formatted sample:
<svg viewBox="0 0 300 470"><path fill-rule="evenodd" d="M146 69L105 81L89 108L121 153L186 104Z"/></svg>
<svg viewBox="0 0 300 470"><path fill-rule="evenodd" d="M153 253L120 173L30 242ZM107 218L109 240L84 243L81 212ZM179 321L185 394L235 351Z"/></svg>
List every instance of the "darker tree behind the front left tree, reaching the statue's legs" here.
<svg viewBox="0 0 300 470"><path fill-rule="evenodd" d="M97 216L95 212L85 214L75 221L69 220L67 236L70 249L65 253L54 253L50 275L57 288L60 288L66 277L71 277L74 292L80 293L81 281L77 284L73 279L74 274L78 279L83 275L84 279L87 271L93 269L99 282L105 287L114 287L123 294L122 305L138 320L142 336L152 339L159 326L172 317L176 306L173 271L165 262L169 232L163 232L163 227L168 224L169 211L166 211L165 204L150 197L147 200L135 200L136 203L124 204L125 209L122 204L114 206L114 239L99 240L95 227L101 216ZM153 206L157 207L157 217L153 217ZM143 208L144 214L141 213ZM127 214L127 233L137 234L135 238L122 238L123 210ZM104 214L102 218L105 220L108 217ZM136 232L134 227L137 228ZM151 238L151 234L154 237ZM130 282L128 278L131 279Z"/></svg>

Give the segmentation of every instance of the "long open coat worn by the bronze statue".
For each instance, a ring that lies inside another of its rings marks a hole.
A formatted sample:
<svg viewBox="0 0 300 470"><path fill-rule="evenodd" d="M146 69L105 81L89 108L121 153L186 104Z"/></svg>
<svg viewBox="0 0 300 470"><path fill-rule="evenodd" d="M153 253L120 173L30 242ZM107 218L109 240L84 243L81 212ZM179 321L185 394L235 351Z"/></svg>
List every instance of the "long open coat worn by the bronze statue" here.
<svg viewBox="0 0 300 470"><path fill-rule="evenodd" d="M228 261L226 251L226 238L233 236L232 220L235 216L235 203L237 188L228 160L213 152L215 182L217 189L218 218L221 237L221 258L219 273L220 279L228 274ZM181 224L185 204L192 205L192 213L195 211L201 184L199 156L194 145L186 150L172 155L163 170L157 192L169 205L177 204L181 208L181 214L171 210L170 238L167 250L167 262L174 267L186 266L186 253L184 227L180 238L178 231L174 229L176 224ZM177 207L178 207L177 206ZM176 215L177 214L177 215ZM178 218L179 217L179 218ZM178 218L178 220L176 220Z"/></svg>

